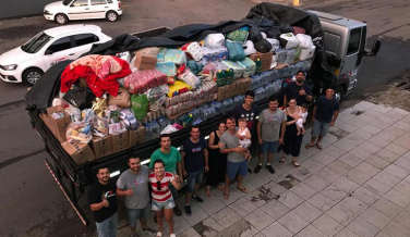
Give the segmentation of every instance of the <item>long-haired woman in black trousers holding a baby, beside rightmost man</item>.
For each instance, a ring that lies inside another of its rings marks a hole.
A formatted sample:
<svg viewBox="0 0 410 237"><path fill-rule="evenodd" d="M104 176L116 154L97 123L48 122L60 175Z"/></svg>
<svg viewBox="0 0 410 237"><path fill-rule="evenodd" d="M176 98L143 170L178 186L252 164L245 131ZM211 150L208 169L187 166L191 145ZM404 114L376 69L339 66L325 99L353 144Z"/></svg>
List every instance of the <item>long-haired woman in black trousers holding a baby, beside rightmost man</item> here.
<svg viewBox="0 0 410 237"><path fill-rule="evenodd" d="M285 163L286 155L292 155L292 164L294 167L299 169L300 164L297 159L300 154L300 148L302 146L303 134L298 136L297 121L300 117L300 107L297 105L297 100L290 98L288 101L288 108L285 109L285 114L288 118L286 122L286 132L285 132L285 146L284 153L279 161L280 164Z"/></svg>

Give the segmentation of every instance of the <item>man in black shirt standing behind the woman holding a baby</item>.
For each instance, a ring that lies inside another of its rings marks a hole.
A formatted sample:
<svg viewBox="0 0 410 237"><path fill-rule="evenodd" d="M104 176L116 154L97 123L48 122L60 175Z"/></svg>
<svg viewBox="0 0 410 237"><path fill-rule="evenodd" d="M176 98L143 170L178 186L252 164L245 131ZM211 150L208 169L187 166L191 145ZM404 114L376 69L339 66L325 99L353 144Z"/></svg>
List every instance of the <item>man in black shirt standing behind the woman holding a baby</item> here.
<svg viewBox="0 0 410 237"><path fill-rule="evenodd" d="M285 88L284 95L284 108L288 105L289 98L297 99L297 105L302 105L303 103L309 103L312 101L312 89L311 86L304 84L305 75L303 71L298 71L296 75L297 80L289 84Z"/></svg>

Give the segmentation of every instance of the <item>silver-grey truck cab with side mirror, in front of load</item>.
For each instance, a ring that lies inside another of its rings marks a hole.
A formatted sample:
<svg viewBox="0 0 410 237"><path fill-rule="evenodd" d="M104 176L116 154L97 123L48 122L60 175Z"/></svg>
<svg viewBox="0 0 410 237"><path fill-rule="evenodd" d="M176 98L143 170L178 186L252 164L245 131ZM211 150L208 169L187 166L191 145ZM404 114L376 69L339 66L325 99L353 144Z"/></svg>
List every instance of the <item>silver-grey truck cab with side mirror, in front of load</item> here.
<svg viewBox="0 0 410 237"><path fill-rule="evenodd" d="M328 82L327 86L335 88L335 97L340 100L354 89L363 57L375 57L381 48L381 41L375 40L372 50L367 51L365 22L324 12L309 12L318 16L324 29L326 71L331 74L331 78L325 82Z"/></svg>

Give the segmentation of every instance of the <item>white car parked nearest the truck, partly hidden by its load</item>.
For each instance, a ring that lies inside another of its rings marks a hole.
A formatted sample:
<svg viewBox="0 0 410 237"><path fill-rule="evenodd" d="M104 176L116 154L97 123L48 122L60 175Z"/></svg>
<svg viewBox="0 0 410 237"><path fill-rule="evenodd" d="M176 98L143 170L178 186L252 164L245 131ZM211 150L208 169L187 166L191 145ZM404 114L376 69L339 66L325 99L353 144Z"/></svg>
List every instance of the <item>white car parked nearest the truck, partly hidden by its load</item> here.
<svg viewBox="0 0 410 237"><path fill-rule="evenodd" d="M8 83L34 85L50 66L75 60L88 52L93 43L111 37L96 25L70 25L46 29L21 47L0 55L0 78Z"/></svg>

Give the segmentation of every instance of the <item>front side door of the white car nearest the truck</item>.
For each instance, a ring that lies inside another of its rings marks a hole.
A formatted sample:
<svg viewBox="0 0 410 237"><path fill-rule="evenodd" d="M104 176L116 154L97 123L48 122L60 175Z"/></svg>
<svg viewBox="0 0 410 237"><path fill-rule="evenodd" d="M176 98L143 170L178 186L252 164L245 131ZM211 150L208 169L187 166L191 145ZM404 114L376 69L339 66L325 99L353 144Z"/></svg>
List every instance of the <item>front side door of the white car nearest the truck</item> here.
<svg viewBox="0 0 410 237"><path fill-rule="evenodd" d="M59 62L76 59L73 41L71 36L65 36L57 39L46 49L43 58L46 70Z"/></svg>

